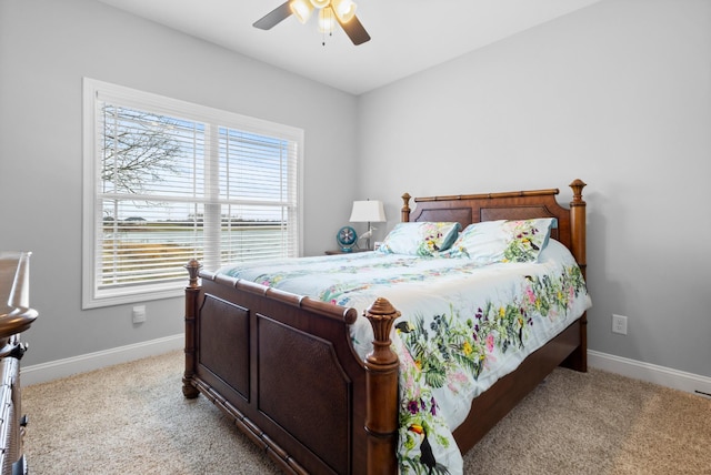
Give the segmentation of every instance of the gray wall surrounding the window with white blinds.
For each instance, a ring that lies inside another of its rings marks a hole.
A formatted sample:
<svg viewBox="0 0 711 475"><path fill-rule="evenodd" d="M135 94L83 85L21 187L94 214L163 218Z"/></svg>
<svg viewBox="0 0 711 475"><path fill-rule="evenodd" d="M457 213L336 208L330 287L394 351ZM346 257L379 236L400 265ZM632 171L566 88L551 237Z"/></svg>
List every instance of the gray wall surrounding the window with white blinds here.
<svg viewBox="0 0 711 475"><path fill-rule="evenodd" d="M182 332L180 299L148 302L137 326L131 305L81 310L82 77L303 128L304 253L334 246L356 194L333 179L354 171L356 98L96 1L0 0L0 249L33 251L40 312L23 364Z"/></svg>

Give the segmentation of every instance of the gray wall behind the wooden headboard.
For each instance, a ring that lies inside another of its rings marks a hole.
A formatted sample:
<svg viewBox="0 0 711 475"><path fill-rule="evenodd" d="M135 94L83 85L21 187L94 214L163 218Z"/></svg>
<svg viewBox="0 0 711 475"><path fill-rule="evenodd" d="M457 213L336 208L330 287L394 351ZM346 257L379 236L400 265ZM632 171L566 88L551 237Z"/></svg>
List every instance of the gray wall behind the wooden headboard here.
<svg viewBox="0 0 711 475"><path fill-rule="evenodd" d="M711 376L711 1L595 3L361 97L358 123L370 196L585 181L590 348Z"/></svg>

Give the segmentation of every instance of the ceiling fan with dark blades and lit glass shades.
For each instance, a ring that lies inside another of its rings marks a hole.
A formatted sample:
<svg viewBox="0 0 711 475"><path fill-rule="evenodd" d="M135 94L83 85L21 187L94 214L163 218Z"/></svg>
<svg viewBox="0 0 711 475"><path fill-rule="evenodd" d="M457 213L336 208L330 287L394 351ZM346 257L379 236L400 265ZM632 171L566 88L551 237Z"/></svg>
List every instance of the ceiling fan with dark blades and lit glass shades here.
<svg viewBox="0 0 711 475"><path fill-rule="evenodd" d="M356 3L352 0L289 0L257 20L253 27L271 30L292 14L306 23L314 8L319 10L319 31L330 33L338 22L353 44L370 40L368 31L356 17Z"/></svg>

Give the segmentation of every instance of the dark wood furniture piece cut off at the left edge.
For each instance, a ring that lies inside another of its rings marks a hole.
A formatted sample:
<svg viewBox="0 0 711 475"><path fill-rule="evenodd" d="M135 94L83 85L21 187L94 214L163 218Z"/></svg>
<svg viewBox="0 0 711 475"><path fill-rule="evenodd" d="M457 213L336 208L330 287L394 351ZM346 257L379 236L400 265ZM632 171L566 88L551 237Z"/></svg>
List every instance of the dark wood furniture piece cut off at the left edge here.
<svg viewBox="0 0 711 475"><path fill-rule="evenodd" d="M32 325L29 305L30 253L0 252L0 468L2 475L27 473L22 438L27 418L21 412L20 358L26 345L20 333Z"/></svg>

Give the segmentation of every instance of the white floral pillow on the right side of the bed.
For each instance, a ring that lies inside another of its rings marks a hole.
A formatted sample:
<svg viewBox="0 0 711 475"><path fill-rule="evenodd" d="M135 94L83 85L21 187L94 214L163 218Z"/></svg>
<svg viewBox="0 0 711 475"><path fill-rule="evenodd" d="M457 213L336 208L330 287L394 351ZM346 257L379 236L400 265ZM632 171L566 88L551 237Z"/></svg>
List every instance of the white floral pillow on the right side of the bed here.
<svg viewBox="0 0 711 475"><path fill-rule="evenodd" d="M533 262L548 244L554 218L472 223L443 253L448 257L469 257L482 264Z"/></svg>

